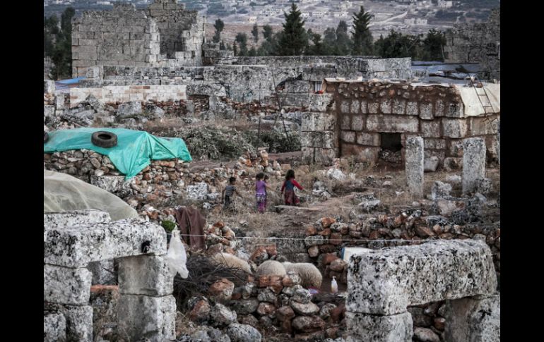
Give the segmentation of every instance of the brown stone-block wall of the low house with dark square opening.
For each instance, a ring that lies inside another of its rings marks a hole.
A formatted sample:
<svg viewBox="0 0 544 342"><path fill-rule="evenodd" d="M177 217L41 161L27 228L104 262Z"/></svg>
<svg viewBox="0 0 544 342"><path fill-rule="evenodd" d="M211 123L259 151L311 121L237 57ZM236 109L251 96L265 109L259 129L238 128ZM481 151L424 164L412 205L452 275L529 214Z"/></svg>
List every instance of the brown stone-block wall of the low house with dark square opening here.
<svg viewBox="0 0 544 342"><path fill-rule="evenodd" d="M421 136L425 159L437 157L440 165L452 169L461 166L463 138L485 138L487 160L497 158L498 121L493 119L500 114L464 117L455 88L346 82L329 83L326 91L333 94L335 106L308 116L302 125L302 151L310 161L330 163L334 157L355 156L377 162L380 133L400 133L403 147L406 138Z"/></svg>

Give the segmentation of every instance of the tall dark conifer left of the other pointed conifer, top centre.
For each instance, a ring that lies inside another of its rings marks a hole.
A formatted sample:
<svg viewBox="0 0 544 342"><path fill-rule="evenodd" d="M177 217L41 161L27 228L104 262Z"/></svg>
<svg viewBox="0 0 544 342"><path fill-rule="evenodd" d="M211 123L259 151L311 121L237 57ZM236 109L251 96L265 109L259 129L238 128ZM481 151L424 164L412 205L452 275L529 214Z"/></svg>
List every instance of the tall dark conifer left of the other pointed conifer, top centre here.
<svg viewBox="0 0 544 342"><path fill-rule="evenodd" d="M304 30L304 20L300 17L297 5L291 4L290 13L283 12L285 23L278 42L278 53L280 56L294 56L304 53L307 47L307 36Z"/></svg>

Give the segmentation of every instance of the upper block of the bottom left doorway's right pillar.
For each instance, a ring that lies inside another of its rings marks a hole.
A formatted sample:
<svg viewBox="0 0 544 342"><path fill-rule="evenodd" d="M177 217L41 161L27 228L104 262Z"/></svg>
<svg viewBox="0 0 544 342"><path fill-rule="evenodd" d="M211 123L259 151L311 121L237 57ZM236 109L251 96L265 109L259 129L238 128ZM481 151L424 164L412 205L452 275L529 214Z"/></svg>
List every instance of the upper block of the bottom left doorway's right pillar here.
<svg viewBox="0 0 544 342"><path fill-rule="evenodd" d="M119 259L119 293L131 295L171 295L174 274L164 257L138 255Z"/></svg>

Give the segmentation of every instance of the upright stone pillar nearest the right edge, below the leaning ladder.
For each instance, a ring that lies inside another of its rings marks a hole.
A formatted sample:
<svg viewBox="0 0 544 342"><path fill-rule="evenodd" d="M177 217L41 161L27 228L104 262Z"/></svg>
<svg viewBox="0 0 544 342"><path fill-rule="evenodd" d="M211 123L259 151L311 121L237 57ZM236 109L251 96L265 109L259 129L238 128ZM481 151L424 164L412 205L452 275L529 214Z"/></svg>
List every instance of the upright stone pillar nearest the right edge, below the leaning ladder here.
<svg viewBox="0 0 544 342"><path fill-rule="evenodd" d="M485 141L468 138L463 140L463 194L476 189L478 178L485 178Z"/></svg>

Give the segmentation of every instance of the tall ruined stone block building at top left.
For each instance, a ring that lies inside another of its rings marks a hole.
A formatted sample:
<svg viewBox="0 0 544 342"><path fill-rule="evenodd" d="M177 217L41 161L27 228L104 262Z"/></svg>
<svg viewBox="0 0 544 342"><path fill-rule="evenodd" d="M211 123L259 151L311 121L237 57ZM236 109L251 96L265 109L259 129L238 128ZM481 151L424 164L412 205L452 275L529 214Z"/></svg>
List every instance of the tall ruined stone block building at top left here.
<svg viewBox="0 0 544 342"><path fill-rule="evenodd" d="M156 0L146 11L114 4L73 19L72 75L91 66L200 66L206 20L176 0Z"/></svg>

